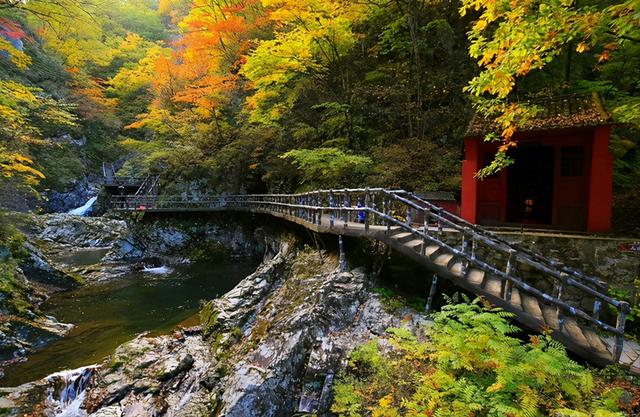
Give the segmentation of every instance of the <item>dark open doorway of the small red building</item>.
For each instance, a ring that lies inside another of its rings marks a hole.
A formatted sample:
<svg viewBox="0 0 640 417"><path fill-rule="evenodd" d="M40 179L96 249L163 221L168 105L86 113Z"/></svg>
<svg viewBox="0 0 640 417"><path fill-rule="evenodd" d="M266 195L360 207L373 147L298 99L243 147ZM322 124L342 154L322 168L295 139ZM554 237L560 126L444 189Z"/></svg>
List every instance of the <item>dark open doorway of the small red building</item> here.
<svg viewBox="0 0 640 417"><path fill-rule="evenodd" d="M551 224L555 148L531 146L509 152L507 222Z"/></svg>

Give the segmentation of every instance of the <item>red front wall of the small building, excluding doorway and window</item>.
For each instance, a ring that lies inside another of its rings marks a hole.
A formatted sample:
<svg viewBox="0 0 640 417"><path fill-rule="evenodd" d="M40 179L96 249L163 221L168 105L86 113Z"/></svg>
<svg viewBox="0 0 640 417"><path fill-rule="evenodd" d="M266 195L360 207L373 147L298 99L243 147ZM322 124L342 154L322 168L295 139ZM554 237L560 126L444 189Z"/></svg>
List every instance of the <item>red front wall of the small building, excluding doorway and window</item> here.
<svg viewBox="0 0 640 417"><path fill-rule="evenodd" d="M602 126L516 137L522 149L533 143L555 147L552 221L542 227L610 231L613 178L613 157L608 149L610 132L609 126ZM487 225L506 222L509 170L481 181L475 178L475 173L493 157L497 146L477 137L465 139L461 216L470 222ZM581 176L561 175L561 149L570 146L584 146Z"/></svg>

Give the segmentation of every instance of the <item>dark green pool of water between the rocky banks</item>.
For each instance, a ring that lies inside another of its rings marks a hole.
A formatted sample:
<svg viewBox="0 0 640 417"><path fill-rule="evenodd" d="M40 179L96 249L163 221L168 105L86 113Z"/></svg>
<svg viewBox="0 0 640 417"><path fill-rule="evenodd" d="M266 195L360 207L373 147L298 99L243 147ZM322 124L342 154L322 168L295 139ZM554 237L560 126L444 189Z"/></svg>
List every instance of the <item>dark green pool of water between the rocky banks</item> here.
<svg viewBox="0 0 640 417"><path fill-rule="evenodd" d="M5 368L0 386L16 386L56 371L99 362L144 331L160 334L178 324L195 325L200 300L224 294L255 267L253 260L246 259L182 265L166 275L135 272L57 293L43 310L75 327L65 337L29 355L26 362Z"/></svg>

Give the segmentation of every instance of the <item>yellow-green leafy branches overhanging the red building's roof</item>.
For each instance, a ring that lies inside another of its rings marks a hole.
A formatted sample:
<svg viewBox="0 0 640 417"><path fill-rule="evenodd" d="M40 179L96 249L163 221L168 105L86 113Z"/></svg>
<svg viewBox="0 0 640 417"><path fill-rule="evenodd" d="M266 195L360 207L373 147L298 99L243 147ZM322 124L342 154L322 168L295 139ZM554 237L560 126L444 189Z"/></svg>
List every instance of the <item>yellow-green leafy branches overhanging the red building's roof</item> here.
<svg viewBox="0 0 640 417"><path fill-rule="evenodd" d="M564 59L565 71L556 85L569 88L570 60L574 53L591 55L591 67L596 71L606 71L610 63L615 65L619 59L629 61L631 57L637 63L640 18L638 2L634 0L586 3L463 0L460 11L463 15L477 14L469 32L469 54L477 59L481 71L471 80L467 91L477 99L477 109L495 118L501 129L498 135L487 138L501 140L502 144L494 162L481 175L513 162L507 156L507 151L516 146L513 135L518 126L535 117L538 111L535 106L514 101L513 93L527 79L534 78L534 72ZM616 84L616 80L608 80L609 89L618 96L614 115L621 121L637 120L640 109L637 85ZM533 90L553 90L549 87L552 86L545 83ZM593 83L589 88L599 89Z"/></svg>

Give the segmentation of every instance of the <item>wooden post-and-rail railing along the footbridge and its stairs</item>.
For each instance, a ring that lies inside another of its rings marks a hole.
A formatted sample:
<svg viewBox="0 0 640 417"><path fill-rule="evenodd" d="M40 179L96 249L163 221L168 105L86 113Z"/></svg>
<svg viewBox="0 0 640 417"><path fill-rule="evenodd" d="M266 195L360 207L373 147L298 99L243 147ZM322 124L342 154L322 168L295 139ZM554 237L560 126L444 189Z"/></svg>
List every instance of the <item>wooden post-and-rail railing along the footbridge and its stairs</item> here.
<svg viewBox="0 0 640 417"><path fill-rule="evenodd" d="M616 339L614 359L617 361L622 353L630 307L624 301L609 297L603 290L606 286L602 281L519 248L403 190L339 189L298 194L215 195L197 199L162 195L115 196L112 206L124 211L276 213L337 229L360 223L365 233L374 227L376 232L386 233L388 237L395 231L393 229L400 229L422 240L423 255L427 246L437 245L462 263L463 273L473 267L499 278L502 282L500 296L506 301L511 299L515 287L555 307L561 324L563 317L570 316L612 334ZM586 308L585 299L591 300L591 308ZM608 322L611 310L616 312L615 325Z"/></svg>

